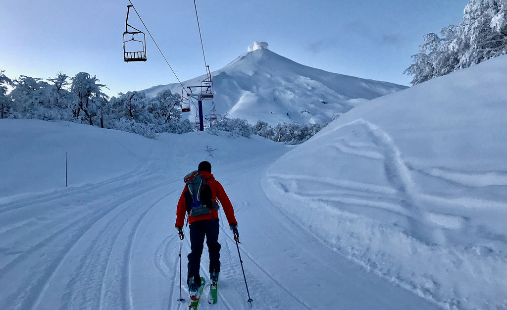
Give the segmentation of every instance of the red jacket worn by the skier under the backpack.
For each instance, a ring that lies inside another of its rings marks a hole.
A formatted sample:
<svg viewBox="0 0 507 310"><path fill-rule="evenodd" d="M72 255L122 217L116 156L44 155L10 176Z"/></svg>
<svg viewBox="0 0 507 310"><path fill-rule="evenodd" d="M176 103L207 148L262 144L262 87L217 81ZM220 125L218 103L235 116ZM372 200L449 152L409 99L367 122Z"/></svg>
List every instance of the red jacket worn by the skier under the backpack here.
<svg viewBox="0 0 507 310"><path fill-rule="evenodd" d="M236 218L234 217L234 209L232 207L231 200L229 200L229 197L227 196L222 184L220 184L219 181L216 181L212 174L206 171L199 172L206 180L206 184L209 185L209 187L211 188L213 202L217 203L216 201L217 199L220 201L222 209L224 209L225 215L227 217L227 221L229 222L229 225L232 224L237 225L238 222L236 222ZM186 191L188 191L188 188L185 186L185 189L179 196L178 205L176 207L176 223L174 224L174 226L176 227L183 227L183 225L185 224L185 215L187 213L187 210L185 209L186 201L184 194ZM211 220L219 217L218 211L216 210L210 211L211 211L210 214L200 215L196 217L189 216L189 224L192 224L195 221Z"/></svg>

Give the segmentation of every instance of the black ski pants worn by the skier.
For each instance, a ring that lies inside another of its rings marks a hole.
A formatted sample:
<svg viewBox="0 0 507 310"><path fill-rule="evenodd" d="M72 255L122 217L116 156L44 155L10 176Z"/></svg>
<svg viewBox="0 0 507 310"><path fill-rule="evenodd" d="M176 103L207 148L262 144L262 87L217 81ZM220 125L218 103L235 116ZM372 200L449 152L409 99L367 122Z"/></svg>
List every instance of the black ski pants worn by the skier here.
<svg viewBox="0 0 507 310"><path fill-rule="evenodd" d="M201 276L199 269L201 266L201 255L204 248L204 237L209 252L209 272L220 272L220 248L219 244L219 219L195 221L190 224L190 247L191 252L187 256L188 276L187 284L190 278L194 278L195 284L201 286Z"/></svg>

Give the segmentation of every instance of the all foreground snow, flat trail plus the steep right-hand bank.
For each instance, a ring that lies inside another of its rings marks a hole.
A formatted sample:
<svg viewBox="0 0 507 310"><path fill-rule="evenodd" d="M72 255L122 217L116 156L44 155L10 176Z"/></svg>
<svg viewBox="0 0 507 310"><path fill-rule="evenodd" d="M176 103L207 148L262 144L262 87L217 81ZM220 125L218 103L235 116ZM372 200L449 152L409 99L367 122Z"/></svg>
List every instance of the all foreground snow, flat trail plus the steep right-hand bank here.
<svg viewBox="0 0 507 310"><path fill-rule="evenodd" d="M0 120L0 308L187 308L175 205L202 160L253 302L221 213L219 301L200 309L507 308L506 72L368 101L296 147Z"/></svg>

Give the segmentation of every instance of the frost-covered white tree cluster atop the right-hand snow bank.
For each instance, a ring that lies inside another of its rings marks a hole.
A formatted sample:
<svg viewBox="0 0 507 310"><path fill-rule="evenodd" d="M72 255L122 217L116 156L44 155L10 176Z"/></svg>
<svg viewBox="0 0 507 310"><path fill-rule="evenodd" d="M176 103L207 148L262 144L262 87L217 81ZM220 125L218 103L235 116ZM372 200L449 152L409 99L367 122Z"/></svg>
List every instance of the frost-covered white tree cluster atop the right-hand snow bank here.
<svg viewBox="0 0 507 310"><path fill-rule="evenodd" d="M428 33L405 70L412 85L507 54L507 0L470 0L459 25Z"/></svg>

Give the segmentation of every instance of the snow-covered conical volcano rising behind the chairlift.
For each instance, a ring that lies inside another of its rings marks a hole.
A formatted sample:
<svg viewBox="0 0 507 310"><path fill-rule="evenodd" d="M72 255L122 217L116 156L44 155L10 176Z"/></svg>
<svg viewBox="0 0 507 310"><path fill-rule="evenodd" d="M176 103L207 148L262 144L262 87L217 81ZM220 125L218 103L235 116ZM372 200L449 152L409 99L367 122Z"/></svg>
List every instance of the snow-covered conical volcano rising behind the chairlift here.
<svg viewBox="0 0 507 310"><path fill-rule="evenodd" d="M360 79L308 67L266 48L246 52L222 69L211 73L214 104L220 115L263 120L274 126L287 123L328 123L339 114L370 99L406 86ZM183 82L201 85L205 75ZM170 89L182 93L180 84L159 85L143 90L147 96ZM211 105L204 100L207 114ZM196 109L189 115L194 120Z"/></svg>

